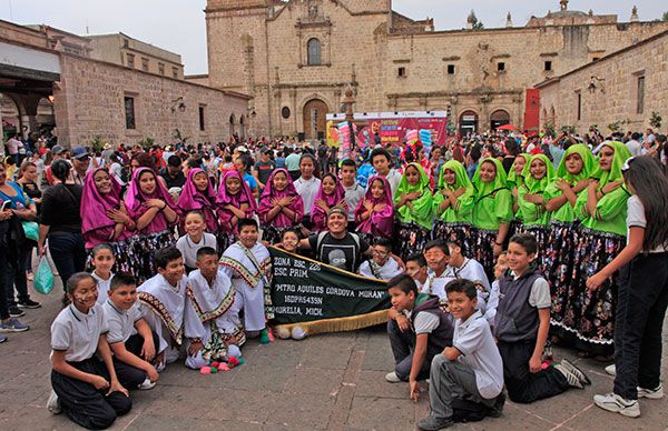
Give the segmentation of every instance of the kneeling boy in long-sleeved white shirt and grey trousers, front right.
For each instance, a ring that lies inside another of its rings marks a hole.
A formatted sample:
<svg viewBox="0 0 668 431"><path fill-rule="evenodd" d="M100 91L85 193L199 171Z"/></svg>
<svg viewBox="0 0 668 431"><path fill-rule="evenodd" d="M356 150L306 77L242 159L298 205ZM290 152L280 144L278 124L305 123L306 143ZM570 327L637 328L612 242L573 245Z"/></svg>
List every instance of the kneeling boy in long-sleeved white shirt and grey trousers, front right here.
<svg viewBox="0 0 668 431"><path fill-rule="evenodd" d="M453 405L456 402L466 403L466 412L479 420L488 414L498 417L505 401L503 362L488 321L477 310L475 283L454 280L448 284L446 292L450 313L456 319L454 338L452 347L432 360L431 413L418 422L421 430L450 427L458 420L456 405Z"/></svg>

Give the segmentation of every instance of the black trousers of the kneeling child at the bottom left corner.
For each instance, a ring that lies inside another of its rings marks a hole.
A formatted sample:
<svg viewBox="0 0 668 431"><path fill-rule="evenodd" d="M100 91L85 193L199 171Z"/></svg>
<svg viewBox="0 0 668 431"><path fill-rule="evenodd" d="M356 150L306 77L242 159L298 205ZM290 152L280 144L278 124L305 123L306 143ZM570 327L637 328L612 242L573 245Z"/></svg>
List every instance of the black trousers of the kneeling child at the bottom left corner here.
<svg viewBox="0 0 668 431"><path fill-rule="evenodd" d="M95 357L69 364L77 370L109 380L107 368ZM107 390L97 390L90 383L72 379L58 371L51 371L51 387L58 395L62 412L72 422L89 430L109 428L117 417L132 409L129 397L120 392L111 392L107 395Z"/></svg>

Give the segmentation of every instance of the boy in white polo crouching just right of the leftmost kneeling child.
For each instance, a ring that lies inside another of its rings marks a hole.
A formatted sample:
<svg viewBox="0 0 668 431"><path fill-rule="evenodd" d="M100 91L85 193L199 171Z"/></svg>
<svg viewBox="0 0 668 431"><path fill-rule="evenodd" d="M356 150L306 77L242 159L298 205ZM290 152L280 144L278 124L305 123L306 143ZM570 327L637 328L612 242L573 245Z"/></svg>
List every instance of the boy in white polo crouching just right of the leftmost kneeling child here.
<svg viewBox="0 0 668 431"><path fill-rule="evenodd" d="M158 372L150 364L158 350L157 335L141 317L135 278L119 272L111 279L109 298L102 304L109 327L107 341L114 352L118 381L129 389L153 389ZM137 333L132 334L137 331Z"/></svg>

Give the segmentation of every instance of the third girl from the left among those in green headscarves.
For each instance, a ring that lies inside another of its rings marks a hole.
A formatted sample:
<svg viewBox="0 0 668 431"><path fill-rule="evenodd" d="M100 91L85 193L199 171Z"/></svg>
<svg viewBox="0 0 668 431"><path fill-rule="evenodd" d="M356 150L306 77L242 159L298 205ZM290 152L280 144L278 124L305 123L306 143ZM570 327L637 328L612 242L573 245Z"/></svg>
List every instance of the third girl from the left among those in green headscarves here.
<svg viewBox="0 0 668 431"><path fill-rule="evenodd" d="M488 278L494 274L494 258L504 248L513 218L512 193L505 181L503 164L492 158L480 162L472 181L475 196L471 254L483 265Z"/></svg>

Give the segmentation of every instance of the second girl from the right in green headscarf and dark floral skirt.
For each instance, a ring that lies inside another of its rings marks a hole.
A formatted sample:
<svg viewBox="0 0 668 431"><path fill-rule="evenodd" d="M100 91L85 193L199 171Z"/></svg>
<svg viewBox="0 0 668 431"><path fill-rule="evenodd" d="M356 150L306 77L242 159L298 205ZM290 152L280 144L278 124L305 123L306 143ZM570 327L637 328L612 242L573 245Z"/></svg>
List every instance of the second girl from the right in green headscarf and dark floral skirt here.
<svg viewBox="0 0 668 431"><path fill-rule="evenodd" d="M550 228L542 253L542 268L552 292L551 322L560 327L571 294L576 243L573 232L579 225L576 202L589 184L596 160L589 147L578 143L563 154L554 180L546 190ZM559 332L559 331L558 331Z"/></svg>

